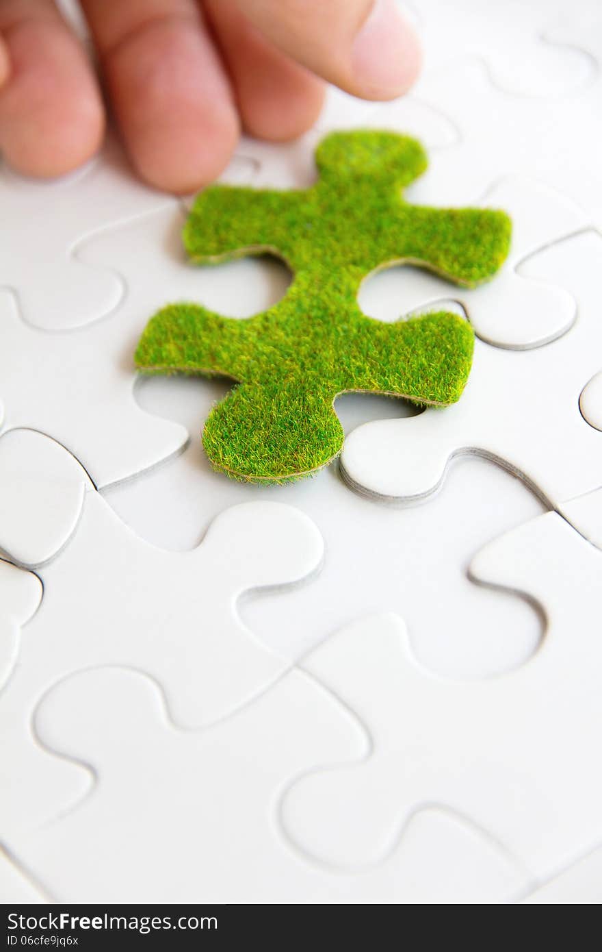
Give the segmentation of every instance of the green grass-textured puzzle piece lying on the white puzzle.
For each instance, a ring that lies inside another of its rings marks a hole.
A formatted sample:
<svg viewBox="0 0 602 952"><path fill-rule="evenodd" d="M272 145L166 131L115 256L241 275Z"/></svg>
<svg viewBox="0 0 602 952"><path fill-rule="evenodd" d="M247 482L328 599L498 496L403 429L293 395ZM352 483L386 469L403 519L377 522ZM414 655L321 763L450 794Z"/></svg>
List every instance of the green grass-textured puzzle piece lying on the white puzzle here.
<svg viewBox="0 0 602 952"><path fill-rule="evenodd" d="M312 188L206 188L184 227L195 262L281 257L294 274L282 300L242 320L169 305L148 322L136 350L146 373L219 374L238 383L213 407L203 434L212 465L237 479L280 483L330 463L343 443L333 404L345 391L454 403L471 367L470 325L445 312L375 321L359 309L359 285L372 271L406 262L473 287L495 273L510 246L502 211L404 201L401 188L426 168L414 139L337 132L321 141L316 161Z"/></svg>

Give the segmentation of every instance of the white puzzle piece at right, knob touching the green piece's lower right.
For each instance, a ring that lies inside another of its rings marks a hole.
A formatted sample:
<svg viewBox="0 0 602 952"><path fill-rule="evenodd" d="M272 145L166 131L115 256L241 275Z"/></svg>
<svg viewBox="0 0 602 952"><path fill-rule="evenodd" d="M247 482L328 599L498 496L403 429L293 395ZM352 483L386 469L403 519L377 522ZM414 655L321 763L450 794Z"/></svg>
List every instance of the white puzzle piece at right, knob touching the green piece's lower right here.
<svg viewBox="0 0 602 952"><path fill-rule="evenodd" d="M378 497L422 498L440 486L449 461L468 452L507 466L551 507L598 486L602 434L581 416L579 394L602 353L601 268L602 239L594 232L537 255L525 273L553 276L574 293L573 327L529 351L477 340L468 384L455 405L368 423L348 437L341 466L350 485Z"/></svg>

